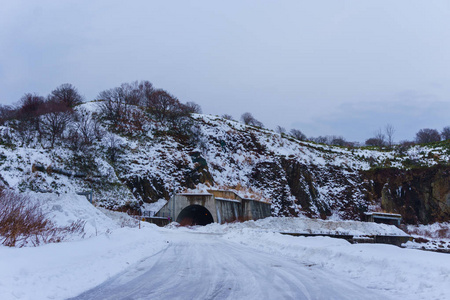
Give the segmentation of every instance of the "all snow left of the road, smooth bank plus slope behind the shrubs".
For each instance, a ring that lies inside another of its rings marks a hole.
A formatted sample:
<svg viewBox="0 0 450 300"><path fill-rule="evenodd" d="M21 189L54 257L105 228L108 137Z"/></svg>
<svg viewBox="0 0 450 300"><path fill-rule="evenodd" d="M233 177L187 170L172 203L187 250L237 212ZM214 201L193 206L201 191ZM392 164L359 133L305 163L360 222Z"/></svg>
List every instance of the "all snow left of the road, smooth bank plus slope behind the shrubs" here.
<svg viewBox="0 0 450 300"><path fill-rule="evenodd" d="M0 299L66 299L167 247L158 227L97 209L77 194L29 193L56 226L85 222L80 236L39 247L0 246ZM134 227L134 228L130 228Z"/></svg>

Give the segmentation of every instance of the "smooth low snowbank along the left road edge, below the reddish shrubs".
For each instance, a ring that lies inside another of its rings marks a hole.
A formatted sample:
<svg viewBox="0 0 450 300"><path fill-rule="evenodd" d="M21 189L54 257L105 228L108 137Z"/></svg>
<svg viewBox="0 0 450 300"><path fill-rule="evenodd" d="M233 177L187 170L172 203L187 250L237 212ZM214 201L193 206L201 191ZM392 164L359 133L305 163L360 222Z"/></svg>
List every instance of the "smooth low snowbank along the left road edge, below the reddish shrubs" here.
<svg viewBox="0 0 450 300"><path fill-rule="evenodd" d="M74 297L167 245L158 228L146 224L69 243L0 247L0 299Z"/></svg>

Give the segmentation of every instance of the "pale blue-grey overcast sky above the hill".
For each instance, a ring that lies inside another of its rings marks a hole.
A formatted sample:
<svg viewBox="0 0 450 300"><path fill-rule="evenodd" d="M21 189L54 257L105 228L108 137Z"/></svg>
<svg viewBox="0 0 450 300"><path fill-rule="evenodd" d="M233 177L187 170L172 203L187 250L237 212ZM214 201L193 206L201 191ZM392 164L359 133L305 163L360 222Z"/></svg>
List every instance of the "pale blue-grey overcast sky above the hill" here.
<svg viewBox="0 0 450 300"><path fill-rule="evenodd" d="M411 140L450 125L450 1L2 0L0 103L135 80L308 137Z"/></svg>

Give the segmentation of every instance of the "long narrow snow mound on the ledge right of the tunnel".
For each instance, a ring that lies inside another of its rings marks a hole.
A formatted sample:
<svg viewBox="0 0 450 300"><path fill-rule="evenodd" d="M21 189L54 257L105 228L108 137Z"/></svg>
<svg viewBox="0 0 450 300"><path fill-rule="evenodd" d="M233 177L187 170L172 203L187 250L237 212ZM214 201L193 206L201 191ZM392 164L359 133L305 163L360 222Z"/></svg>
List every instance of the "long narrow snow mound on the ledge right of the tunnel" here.
<svg viewBox="0 0 450 300"><path fill-rule="evenodd" d="M407 235L405 232L392 225L358 221L309 219L307 217L270 217L257 221L247 221L244 223L228 223L224 225L209 224L205 227L195 227L195 230L220 233L236 229L242 230L245 228L283 233L342 234L354 236Z"/></svg>

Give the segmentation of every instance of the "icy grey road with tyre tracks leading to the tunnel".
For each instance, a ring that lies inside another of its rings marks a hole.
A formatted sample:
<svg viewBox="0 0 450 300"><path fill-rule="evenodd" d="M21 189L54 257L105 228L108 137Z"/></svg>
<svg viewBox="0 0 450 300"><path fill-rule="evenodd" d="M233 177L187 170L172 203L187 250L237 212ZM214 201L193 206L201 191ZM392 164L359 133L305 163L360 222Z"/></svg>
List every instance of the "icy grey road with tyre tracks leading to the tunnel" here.
<svg viewBox="0 0 450 300"><path fill-rule="evenodd" d="M386 299L332 272L217 234L167 239L163 251L72 299Z"/></svg>

